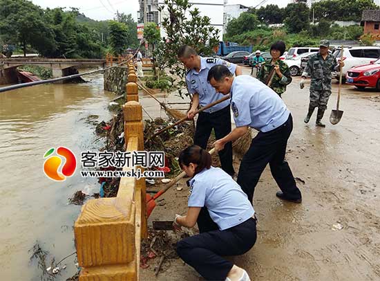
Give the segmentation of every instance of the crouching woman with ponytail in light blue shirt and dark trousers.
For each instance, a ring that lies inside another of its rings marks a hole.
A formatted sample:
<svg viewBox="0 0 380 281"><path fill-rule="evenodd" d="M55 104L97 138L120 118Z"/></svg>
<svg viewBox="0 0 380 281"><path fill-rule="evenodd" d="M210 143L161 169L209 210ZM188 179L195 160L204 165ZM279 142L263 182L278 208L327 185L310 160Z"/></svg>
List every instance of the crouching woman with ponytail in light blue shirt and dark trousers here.
<svg viewBox="0 0 380 281"><path fill-rule="evenodd" d="M242 255L256 242L254 208L247 195L229 174L211 166L211 155L198 145L184 149L179 163L191 177L191 194L187 215L176 215L173 226L191 228L198 221L200 234L178 242L178 255L206 280L250 280L247 271L221 257ZM200 221L207 220L204 231Z"/></svg>

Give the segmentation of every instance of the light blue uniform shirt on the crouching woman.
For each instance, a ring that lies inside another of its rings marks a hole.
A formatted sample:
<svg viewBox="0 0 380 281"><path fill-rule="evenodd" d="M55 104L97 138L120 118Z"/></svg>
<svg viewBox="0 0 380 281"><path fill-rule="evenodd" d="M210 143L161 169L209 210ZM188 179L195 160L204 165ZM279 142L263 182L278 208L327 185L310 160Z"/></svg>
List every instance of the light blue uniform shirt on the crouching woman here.
<svg viewBox="0 0 380 281"><path fill-rule="evenodd" d="M189 207L206 207L211 219L225 230L247 221L255 213L238 183L218 167L210 167L189 181Z"/></svg>

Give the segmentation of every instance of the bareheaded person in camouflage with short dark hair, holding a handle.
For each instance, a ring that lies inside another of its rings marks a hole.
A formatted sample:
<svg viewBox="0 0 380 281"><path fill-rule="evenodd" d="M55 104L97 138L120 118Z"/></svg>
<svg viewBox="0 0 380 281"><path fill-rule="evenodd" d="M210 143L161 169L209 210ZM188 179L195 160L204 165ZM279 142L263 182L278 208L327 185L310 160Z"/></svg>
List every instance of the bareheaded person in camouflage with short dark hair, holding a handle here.
<svg viewBox="0 0 380 281"><path fill-rule="evenodd" d="M278 41L270 48L272 59L266 60L261 66L257 79L270 87L281 98L281 94L286 91L288 84L292 82L292 75L290 75L289 67L285 62L280 60L281 55L285 51L285 43ZM270 75L274 69L274 77L270 82ZM268 84L270 83L270 84Z"/></svg>

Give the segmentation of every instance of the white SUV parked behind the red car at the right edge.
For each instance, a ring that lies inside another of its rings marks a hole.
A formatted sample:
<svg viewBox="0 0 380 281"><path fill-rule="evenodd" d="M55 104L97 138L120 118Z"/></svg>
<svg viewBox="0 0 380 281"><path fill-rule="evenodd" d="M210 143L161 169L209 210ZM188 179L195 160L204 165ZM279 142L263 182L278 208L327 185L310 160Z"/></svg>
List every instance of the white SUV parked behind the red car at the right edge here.
<svg viewBox="0 0 380 281"><path fill-rule="evenodd" d="M341 48L337 48L333 55L338 62L341 59ZM377 60L380 57L380 47L363 46L363 47L345 47L343 48L343 62L342 78L345 80L345 75L348 69L362 64L370 64L370 62ZM332 77L339 80L339 72L332 73Z"/></svg>

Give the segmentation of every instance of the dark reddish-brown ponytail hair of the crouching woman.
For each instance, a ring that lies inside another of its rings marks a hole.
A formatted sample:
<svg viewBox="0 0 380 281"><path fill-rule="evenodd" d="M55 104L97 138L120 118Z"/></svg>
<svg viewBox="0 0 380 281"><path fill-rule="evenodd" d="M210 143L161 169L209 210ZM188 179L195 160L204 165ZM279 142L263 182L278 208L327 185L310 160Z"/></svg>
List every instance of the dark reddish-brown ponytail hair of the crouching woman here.
<svg viewBox="0 0 380 281"><path fill-rule="evenodd" d="M194 176L199 172L202 172L205 168L208 170L211 167L211 154L207 150L202 149L198 145L191 145L180 153L178 158L180 166L189 166L190 163L196 164L196 171Z"/></svg>

